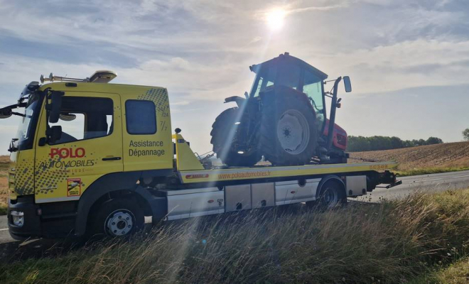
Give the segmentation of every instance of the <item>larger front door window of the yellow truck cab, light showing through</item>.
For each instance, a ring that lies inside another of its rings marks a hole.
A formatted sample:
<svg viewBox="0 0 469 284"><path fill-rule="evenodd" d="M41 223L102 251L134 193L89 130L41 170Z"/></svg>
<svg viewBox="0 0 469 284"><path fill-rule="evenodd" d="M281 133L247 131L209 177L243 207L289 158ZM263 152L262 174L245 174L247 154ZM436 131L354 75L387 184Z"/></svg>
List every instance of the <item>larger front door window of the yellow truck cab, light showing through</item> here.
<svg viewBox="0 0 469 284"><path fill-rule="evenodd" d="M108 136L112 133L112 99L63 97L59 121L62 136L55 144Z"/></svg>

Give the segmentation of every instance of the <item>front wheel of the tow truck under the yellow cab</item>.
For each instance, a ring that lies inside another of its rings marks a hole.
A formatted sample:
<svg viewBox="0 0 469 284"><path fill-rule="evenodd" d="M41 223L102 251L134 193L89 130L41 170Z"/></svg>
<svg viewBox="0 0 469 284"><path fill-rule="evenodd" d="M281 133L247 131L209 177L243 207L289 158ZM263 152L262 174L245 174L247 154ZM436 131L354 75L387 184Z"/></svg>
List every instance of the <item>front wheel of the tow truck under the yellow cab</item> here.
<svg viewBox="0 0 469 284"><path fill-rule="evenodd" d="M104 202L95 216L90 216L92 224L88 236L126 237L141 230L145 224L144 212L133 200L123 198Z"/></svg>

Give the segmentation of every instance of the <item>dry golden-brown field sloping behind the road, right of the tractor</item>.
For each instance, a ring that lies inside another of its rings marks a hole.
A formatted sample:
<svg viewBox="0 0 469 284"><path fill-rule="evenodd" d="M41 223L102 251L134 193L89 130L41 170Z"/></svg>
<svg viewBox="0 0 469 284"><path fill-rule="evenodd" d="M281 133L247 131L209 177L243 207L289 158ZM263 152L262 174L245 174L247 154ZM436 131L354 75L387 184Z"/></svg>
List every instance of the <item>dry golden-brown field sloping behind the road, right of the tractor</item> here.
<svg viewBox="0 0 469 284"><path fill-rule="evenodd" d="M403 149L350 153L351 158L394 160L404 172L469 169L469 142L443 143ZM350 159L349 163L360 160Z"/></svg>

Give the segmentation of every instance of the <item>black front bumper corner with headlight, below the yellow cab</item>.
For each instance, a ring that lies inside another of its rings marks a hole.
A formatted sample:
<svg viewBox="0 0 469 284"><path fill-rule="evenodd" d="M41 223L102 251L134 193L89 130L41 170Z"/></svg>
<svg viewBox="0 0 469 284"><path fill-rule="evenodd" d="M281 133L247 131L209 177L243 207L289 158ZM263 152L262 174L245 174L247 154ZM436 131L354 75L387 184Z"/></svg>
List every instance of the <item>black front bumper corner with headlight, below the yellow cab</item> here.
<svg viewBox="0 0 469 284"><path fill-rule="evenodd" d="M13 239L23 240L41 236L41 217L37 214L38 208L34 203L34 195L18 197L14 201L9 200L8 229Z"/></svg>

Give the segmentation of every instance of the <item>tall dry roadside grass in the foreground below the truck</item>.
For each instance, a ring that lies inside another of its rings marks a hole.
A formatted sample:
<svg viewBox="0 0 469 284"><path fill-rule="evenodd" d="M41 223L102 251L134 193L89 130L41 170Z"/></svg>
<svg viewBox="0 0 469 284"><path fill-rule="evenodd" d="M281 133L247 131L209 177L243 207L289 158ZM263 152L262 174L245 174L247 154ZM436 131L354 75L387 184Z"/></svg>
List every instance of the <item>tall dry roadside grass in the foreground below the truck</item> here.
<svg viewBox="0 0 469 284"><path fill-rule="evenodd" d="M469 191L270 209L165 224L52 258L0 264L7 283L400 283L468 252Z"/></svg>

